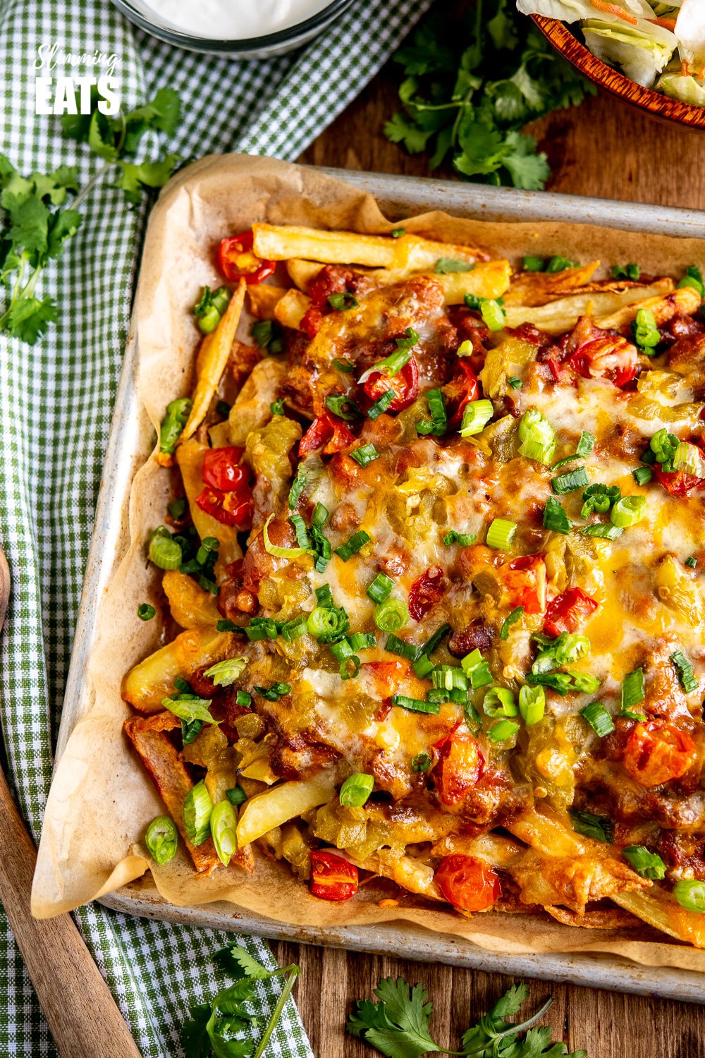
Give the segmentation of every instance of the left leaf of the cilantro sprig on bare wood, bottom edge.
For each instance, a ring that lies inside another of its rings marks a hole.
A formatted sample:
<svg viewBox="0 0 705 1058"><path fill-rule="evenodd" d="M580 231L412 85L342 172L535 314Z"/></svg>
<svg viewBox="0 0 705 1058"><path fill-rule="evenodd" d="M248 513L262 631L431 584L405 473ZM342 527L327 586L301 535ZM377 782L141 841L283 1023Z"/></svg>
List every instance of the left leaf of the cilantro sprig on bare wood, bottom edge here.
<svg viewBox="0 0 705 1058"><path fill-rule="evenodd" d="M432 1003L423 985L410 988L403 978L383 978L374 989L381 1002L355 1005L348 1032L366 1040L388 1058L421 1058L441 1048L428 1030Z"/></svg>

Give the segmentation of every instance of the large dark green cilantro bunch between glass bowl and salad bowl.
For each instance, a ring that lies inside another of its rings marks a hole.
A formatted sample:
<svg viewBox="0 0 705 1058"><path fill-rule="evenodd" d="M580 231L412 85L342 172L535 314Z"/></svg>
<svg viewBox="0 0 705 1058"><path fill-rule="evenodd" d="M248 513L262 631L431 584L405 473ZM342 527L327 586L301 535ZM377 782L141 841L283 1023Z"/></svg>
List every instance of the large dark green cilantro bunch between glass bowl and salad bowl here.
<svg viewBox="0 0 705 1058"><path fill-rule="evenodd" d="M551 170L522 128L595 89L513 7L477 0L460 20L445 11L425 19L394 56L404 110L385 134L411 154L427 151L431 169L450 156L465 177L538 190Z"/></svg>

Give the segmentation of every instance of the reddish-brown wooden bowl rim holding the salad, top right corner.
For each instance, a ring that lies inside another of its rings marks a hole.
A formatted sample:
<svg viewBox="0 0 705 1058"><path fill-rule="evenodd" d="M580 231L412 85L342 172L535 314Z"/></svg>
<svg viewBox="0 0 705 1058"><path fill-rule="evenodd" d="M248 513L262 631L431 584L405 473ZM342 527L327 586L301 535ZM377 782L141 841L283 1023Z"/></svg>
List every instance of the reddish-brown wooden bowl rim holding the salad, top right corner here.
<svg viewBox="0 0 705 1058"><path fill-rule="evenodd" d="M680 99L671 99L668 95L654 92L651 88L642 88L636 81L630 80L623 73L595 58L592 52L573 36L570 28L558 19L546 18L543 15L532 15L532 18L556 51L598 88L655 117L686 125L688 128L705 129L705 107L694 107L690 103L681 103Z"/></svg>

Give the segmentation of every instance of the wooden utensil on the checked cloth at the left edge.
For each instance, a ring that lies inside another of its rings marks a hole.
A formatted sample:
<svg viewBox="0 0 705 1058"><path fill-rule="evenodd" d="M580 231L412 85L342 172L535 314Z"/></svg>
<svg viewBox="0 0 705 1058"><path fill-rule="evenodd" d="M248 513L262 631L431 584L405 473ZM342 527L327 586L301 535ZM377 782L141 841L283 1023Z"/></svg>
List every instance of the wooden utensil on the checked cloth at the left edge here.
<svg viewBox="0 0 705 1058"><path fill-rule="evenodd" d="M0 549L0 628L10 572ZM140 1058L81 936L69 915L37 922L30 911L34 844L0 770L0 900L61 1058Z"/></svg>

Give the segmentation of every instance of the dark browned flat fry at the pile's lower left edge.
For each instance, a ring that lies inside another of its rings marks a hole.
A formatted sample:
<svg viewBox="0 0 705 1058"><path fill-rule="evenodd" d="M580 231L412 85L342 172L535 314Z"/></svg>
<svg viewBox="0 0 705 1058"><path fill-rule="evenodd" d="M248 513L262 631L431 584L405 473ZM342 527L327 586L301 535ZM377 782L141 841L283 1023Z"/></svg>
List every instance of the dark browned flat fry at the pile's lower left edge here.
<svg viewBox="0 0 705 1058"><path fill-rule="evenodd" d="M170 713L168 715L171 716ZM179 750L169 742L164 729L155 729L153 720L159 719L161 717L145 719L142 716L133 716L125 722L125 734L140 754L146 770L152 777L167 811L184 839L184 844L193 860L193 867L200 874L210 874L220 863L216 847L211 838L208 838L203 844L192 845L186 836L184 801L188 791L192 789L193 783L179 756ZM172 719L175 722L172 726L180 725L181 722L178 717L173 716ZM171 722L168 723L171 724Z"/></svg>

